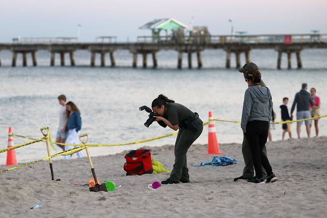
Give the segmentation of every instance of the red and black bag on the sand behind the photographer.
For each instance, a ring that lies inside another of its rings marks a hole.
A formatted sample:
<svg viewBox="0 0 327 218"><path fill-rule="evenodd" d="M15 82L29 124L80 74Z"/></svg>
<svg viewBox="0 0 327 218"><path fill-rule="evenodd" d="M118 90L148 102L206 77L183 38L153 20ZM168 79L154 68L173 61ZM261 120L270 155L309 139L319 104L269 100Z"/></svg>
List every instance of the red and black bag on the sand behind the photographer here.
<svg viewBox="0 0 327 218"><path fill-rule="evenodd" d="M132 150L125 155L125 159L124 170L127 172L126 176L153 173L150 150Z"/></svg>

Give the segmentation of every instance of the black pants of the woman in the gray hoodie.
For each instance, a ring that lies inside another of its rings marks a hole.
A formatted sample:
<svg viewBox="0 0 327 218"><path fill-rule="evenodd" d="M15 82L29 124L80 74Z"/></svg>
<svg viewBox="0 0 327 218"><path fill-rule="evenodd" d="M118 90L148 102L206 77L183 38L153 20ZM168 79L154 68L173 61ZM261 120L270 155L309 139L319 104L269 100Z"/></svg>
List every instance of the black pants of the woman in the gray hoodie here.
<svg viewBox="0 0 327 218"><path fill-rule="evenodd" d="M268 121L253 120L246 124L246 139L251 149L252 161L256 178L262 178L262 168L266 170L267 175L272 174L272 169L267 156L263 153L263 146L268 137Z"/></svg>

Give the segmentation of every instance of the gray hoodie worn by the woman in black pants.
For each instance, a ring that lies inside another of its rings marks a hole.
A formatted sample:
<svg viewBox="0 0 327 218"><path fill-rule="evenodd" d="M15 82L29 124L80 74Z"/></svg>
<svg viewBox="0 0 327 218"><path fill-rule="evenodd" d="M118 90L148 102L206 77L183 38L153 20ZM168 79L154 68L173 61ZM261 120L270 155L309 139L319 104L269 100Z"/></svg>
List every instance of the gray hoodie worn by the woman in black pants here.
<svg viewBox="0 0 327 218"><path fill-rule="evenodd" d="M272 102L271 94L267 87L251 86L244 95L241 128L246 132L248 121L271 120Z"/></svg>

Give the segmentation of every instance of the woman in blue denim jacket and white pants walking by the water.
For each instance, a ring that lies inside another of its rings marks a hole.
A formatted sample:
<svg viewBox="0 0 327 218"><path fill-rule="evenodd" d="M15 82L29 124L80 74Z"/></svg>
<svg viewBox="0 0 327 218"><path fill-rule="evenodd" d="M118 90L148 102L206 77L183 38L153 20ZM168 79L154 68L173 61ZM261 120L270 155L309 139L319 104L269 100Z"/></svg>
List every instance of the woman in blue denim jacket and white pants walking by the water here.
<svg viewBox="0 0 327 218"><path fill-rule="evenodd" d="M79 140L79 131L82 128L82 118L81 118L81 112L80 109L73 103L68 102L66 104L66 110L67 110L67 127L66 131L68 130L68 137L66 139L66 144L80 144ZM70 146L65 145L65 150L71 149L73 147L77 146ZM77 157L83 157L82 151L79 151L76 153ZM71 156L64 156L64 159L70 159Z"/></svg>

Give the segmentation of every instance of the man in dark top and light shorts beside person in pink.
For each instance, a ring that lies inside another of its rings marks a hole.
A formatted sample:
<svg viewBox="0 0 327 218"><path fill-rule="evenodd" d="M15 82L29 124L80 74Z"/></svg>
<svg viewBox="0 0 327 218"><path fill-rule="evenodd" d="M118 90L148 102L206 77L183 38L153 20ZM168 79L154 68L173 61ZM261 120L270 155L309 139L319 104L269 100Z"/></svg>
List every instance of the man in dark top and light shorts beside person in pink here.
<svg viewBox="0 0 327 218"><path fill-rule="evenodd" d="M297 105L296 119L311 118L309 103L311 105L314 105L314 102L312 101L312 97L310 96L310 93L307 92L307 89L308 89L308 85L306 83L303 83L301 91L295 95L294 102L291 109L291 116L293 114L295 106ZM298 138L300 138L302 123L303 121L297 122L296 131L298 133ZM311 120L305 120L305 124L307 128L308 138L310 138Z"/></svg>

